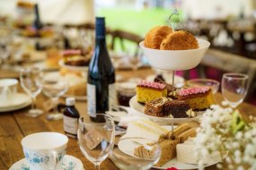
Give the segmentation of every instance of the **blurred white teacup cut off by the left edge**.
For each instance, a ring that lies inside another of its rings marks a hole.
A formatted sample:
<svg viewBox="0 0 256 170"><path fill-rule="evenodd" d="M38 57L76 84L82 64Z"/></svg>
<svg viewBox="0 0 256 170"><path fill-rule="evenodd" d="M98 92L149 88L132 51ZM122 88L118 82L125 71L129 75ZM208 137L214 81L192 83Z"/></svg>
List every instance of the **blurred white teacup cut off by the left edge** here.
<svg viewBox="0 0 256 170"><path fill-rule="evenodd" d="M14 97L18 83L16 79L0 79L0 106L6 105Z"/></svg>

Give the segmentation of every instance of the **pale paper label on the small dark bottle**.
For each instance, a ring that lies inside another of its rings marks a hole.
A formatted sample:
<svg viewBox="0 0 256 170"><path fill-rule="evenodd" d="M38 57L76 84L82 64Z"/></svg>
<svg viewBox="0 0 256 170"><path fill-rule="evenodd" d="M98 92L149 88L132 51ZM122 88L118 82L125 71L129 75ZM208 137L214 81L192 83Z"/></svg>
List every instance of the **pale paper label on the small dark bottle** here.
<svg viewBox="0 0 256 170"><path fill-rule="evenodd" d="M77 118L63 115L63 125L64 125L65 132L68 132L71 134L77 134L77 129L78 129L78 119Z"/></svg>

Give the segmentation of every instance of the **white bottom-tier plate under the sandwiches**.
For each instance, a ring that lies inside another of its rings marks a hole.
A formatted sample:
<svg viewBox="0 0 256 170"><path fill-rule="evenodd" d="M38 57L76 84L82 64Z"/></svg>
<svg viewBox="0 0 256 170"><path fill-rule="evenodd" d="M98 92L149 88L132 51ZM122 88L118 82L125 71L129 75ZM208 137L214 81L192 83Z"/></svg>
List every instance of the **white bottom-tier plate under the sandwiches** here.
<svg viewBox="0 0 256 170"><path fill-rule="evenodd" d="M125 137L126 137L126 135L122 136L122 138L125 138ZM138 144L137 142L135 142L133 140L119 140L118 147L123 153L128 154L131 157L134 157L134 149L139 145L140 144ZM213 159L210 162L208 162L207 165L205 165L205 167L213 166L213 165L217 164L218 162L220 162L220 160ZM167 169L168 167L175 167L180 170L198 169L199 168L199 166L195 165L195 164L185 164L185 163L178 162L176 157L161 167L160 166L153 166L153 167L155 169Z"/></svg>

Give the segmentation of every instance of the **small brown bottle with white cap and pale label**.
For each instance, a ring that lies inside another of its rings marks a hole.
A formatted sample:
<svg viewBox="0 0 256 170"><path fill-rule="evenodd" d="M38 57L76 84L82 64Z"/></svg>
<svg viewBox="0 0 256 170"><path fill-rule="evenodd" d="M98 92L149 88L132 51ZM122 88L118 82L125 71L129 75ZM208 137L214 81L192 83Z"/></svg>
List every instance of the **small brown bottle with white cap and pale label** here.
<svg viewBox="0 0 256 170"><path fill-rule="evenodd" d="M63 125L66 136L77 138L79 117L80 115L75 108L75 98L66 98L66 109L63 113Z"/></svg>

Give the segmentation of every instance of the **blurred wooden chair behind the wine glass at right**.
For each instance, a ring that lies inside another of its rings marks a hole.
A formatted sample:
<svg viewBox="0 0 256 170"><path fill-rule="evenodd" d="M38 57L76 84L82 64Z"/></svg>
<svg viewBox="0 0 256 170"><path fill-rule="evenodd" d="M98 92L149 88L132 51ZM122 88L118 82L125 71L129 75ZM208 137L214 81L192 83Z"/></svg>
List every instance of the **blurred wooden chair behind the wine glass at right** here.
<svg viewBox="0 0 256 170"><path fill-rule="evenodd" d="M199 72L202 77L207 67L213 67L221 72L239 72L249 76L249 98L256 88L256 60L246 58L242 55L234 55L216 49L208 49L206 56L199 65Z"/></svg>

